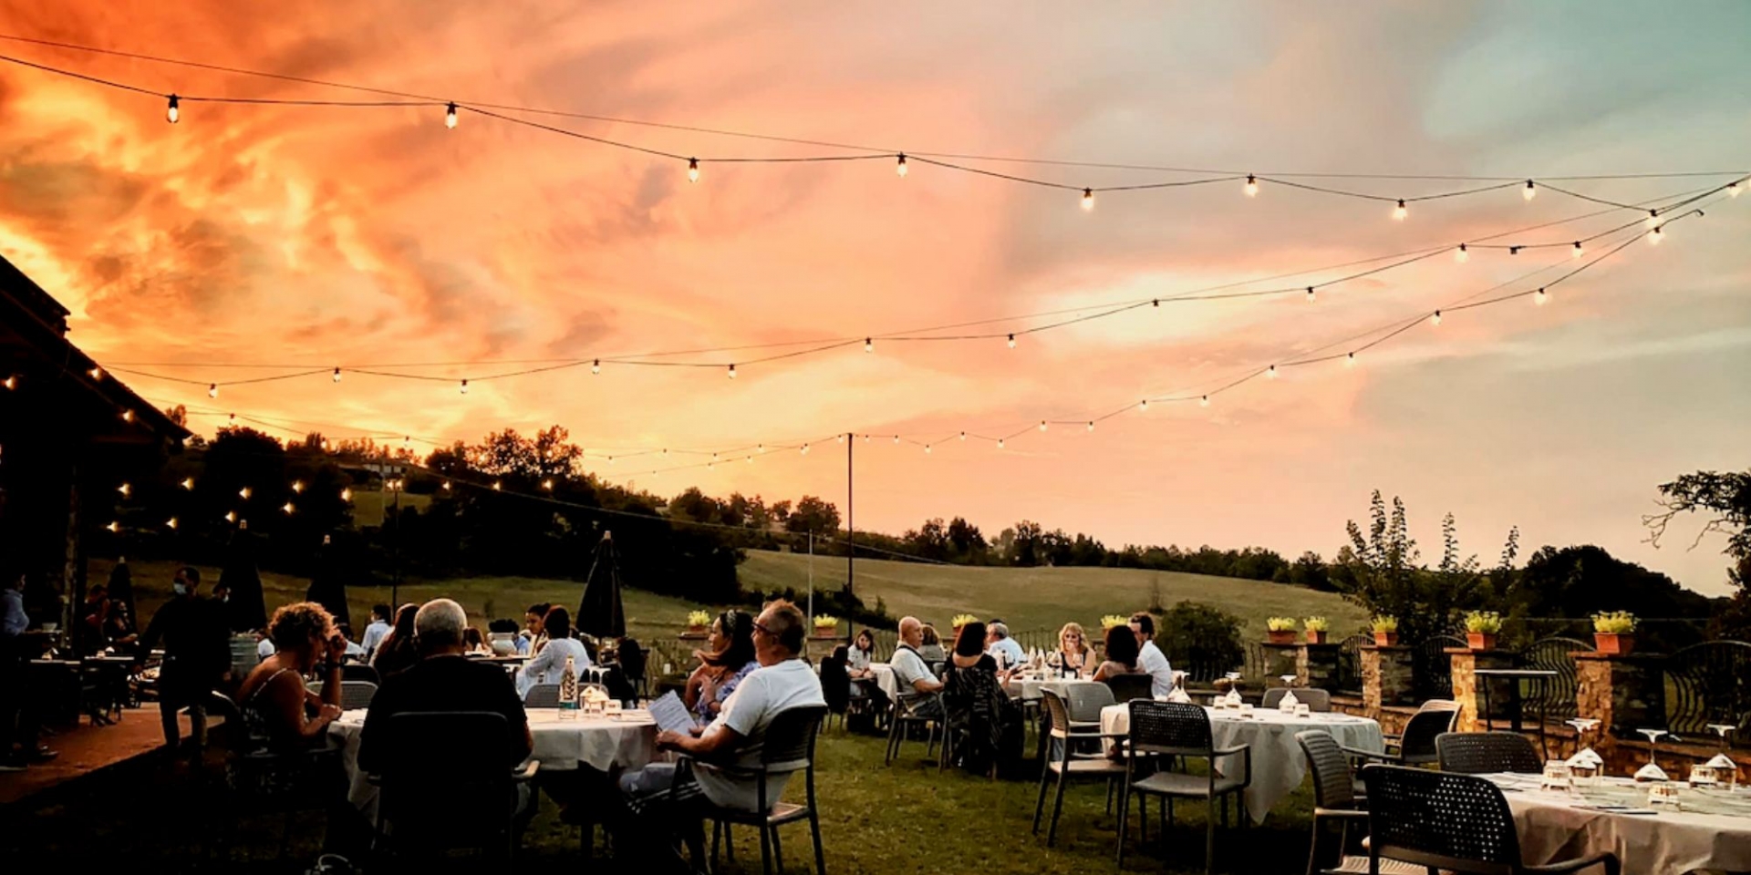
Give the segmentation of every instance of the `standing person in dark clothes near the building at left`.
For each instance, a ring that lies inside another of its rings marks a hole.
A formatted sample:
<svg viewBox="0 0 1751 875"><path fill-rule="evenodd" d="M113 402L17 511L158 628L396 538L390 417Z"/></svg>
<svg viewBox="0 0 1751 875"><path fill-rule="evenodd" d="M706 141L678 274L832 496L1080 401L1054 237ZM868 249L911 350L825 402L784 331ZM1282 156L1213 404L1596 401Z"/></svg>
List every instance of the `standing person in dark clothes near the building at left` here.
<svg viewBox="0 0 1751 875"><path fill-rule="evenodd" d="M172 581L175 597L152 614L140 639L142 658L165 644L165 665L158 672L165 749L173 751L180 742L177 710L187 707L196 756L207 746L207 695L231 674L231 630L219 602L198 595L200 584L200 569L177 569Z"/></svg>

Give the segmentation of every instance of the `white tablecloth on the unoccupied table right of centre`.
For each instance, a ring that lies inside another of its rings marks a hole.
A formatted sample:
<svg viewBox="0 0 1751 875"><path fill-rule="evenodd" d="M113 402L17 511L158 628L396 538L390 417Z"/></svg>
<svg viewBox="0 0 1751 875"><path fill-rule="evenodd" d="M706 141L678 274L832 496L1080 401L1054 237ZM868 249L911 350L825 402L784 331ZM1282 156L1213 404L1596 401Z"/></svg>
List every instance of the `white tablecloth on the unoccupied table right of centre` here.
<svg viewBox="0 0 1751 875"><path fill-rule="evenodd" d="M1215 747L1252 746L1252 784L1245 789L1252 822L1264 822L1276 800L1294 793L1308 774L1308 760L1296 744L1303 730L1329 732L1338 744L1364 751L1385 751L1380 723L1350 714L1308 714L1296 718L1280 710L1254 709L1252 718L1234 710L1205 709L1210 714L1210 737ZM1100 710L1100 732L1122 733L1131 726L1126 705L1107 705ZM1238 756L1217 761L1220 768L1240 768Z"/></svg>

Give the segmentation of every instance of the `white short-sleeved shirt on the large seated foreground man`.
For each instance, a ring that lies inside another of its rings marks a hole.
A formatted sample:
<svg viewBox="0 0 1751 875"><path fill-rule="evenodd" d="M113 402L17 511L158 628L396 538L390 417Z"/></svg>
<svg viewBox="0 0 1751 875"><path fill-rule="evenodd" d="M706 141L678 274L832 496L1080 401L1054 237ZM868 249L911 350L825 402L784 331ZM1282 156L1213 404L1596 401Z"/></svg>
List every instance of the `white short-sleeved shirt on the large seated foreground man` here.
<svg viewBox="0 0 1751 875"><path fill-rule="evenodd" d="M735 749L735 763L758 766L760 744L772 718L793 707L825 704L821 679L814 676L814 668L802 660L784 660L742 677L741 686L723 704L718 719L711 721L706 732L718 732L723 726L735 730L742 737L742 744ZM714 805L744 812L755 812L760 807L760 779L725 775L709 765L699 765L693 774L699 777L699 788ZM767 779L767 805L777 803L786 780L790 775Z"/></svg>

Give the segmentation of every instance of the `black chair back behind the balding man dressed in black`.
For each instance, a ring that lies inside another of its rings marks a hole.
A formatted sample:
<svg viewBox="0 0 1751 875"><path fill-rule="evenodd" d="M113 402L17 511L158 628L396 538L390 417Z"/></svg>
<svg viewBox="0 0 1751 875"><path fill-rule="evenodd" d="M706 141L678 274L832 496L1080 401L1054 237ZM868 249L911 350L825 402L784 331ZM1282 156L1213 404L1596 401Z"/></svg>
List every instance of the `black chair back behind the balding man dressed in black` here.
<svg viewBox="0 0 1751 875"><path fill-rule="evenodd" d="M510 724L483 710L411 712L389 718L385 768L369 775L376 800L373 850L443 852L503 849L517 856L518 814L541 763L511 768ZM441 763L441 766L434 766ZM466 802L464 802L466 800Z"/></svg>

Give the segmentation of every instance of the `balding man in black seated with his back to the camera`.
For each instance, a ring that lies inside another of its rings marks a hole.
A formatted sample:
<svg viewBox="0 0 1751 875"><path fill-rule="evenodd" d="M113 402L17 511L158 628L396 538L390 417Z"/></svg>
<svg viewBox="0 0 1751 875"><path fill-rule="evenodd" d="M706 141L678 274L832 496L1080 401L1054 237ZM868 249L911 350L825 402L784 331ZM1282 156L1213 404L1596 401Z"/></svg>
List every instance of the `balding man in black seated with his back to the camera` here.
<svg viewBox="0 0 1751 875"><path fill-rule="evenodd" d="M496 663L469 660L462 648L462 630L468 614L450 598L425 602L415 616L415 635L420 662L404 672L385 676L383 686L371 696L359 732L359 768L382 772L387 758L383 738L396 714L431 710L490 710L503 714L510 724L504 749L506 768L529 758L534 737L529 733L529 714L517 686ZM432 763L441 768L441 763Z"/></svg>

